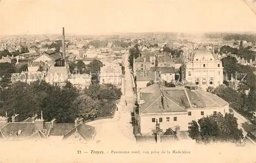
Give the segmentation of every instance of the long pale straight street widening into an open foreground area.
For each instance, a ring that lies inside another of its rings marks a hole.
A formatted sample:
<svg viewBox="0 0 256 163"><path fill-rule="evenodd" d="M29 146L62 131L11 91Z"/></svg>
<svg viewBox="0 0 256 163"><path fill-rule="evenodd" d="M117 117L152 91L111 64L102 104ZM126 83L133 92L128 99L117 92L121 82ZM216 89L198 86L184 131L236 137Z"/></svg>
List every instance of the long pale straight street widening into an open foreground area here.
<svg viewBox="0 0 256 163"><path fill-rule="evenodd" d="M114 118L102 119L87 123L88 125L96 128L96 135L94 138L95 142L98 141L98 143L104 144L113 142L136 143L133 134L133 126L130 123L135 97L127 57L127 55L124 57L124 95L121 96L120 103L118 104L118 111L116 111ZM127 106L125 100L127 102Z"/></svg>

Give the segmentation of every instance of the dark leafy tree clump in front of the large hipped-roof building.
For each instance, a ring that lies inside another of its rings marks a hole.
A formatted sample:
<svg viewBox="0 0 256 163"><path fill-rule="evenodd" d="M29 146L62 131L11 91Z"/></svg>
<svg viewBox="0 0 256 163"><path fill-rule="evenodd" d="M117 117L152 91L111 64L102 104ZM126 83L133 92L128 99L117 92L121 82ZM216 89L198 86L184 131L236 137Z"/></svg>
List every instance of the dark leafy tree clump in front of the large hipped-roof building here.
<svg viewBox="0 0 256 163"><path fill-rule="evenodd" d="M199 124L199 126L198 126ZM233 114L221 113L193 121L189 132L190 138L200 143L234 142L243 139L243 132L238 129L237 118ZM199 129L200 128L200 129Z"/></svg>

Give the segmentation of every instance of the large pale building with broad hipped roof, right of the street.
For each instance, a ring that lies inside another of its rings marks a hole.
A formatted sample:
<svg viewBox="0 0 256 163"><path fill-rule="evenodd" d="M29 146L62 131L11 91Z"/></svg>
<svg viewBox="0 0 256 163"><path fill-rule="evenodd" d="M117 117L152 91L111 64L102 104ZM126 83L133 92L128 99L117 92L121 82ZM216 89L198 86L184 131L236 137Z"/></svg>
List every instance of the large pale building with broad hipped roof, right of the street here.
<svg viewBox="0 0 256 163"><path fill-rule="evenodd" d="M160 132L177 126L180 131L187 131L191 121L216 113L228 113L229 104L215 94L198 89L195 84L185 87L165 87L159 82L140 89L138 94L138 126L141 134L152 135L156 122Z"/></svg>

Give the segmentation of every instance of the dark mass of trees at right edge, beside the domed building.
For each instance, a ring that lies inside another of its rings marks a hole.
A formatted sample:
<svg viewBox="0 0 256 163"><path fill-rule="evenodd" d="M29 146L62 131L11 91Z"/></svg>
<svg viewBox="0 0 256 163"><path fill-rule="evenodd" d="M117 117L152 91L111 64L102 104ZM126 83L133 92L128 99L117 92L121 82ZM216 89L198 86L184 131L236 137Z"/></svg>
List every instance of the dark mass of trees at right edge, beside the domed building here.
<svg viewBox="0 0 256 163"><path fill-rule="evenodd" d="M227 74L227 79L230 79L232 76L234 79L240 80L238 89L234 90L222 85L216 89L209 87L207 91L223 98L236 111L250 118L255 111L256 104L256 77L253 73L255 71L254 68L238 64L236 58L230 56L223 58L221 61L224 67L224 74ZM248 90L249 93L247 95L246 91Z"/></svg>

